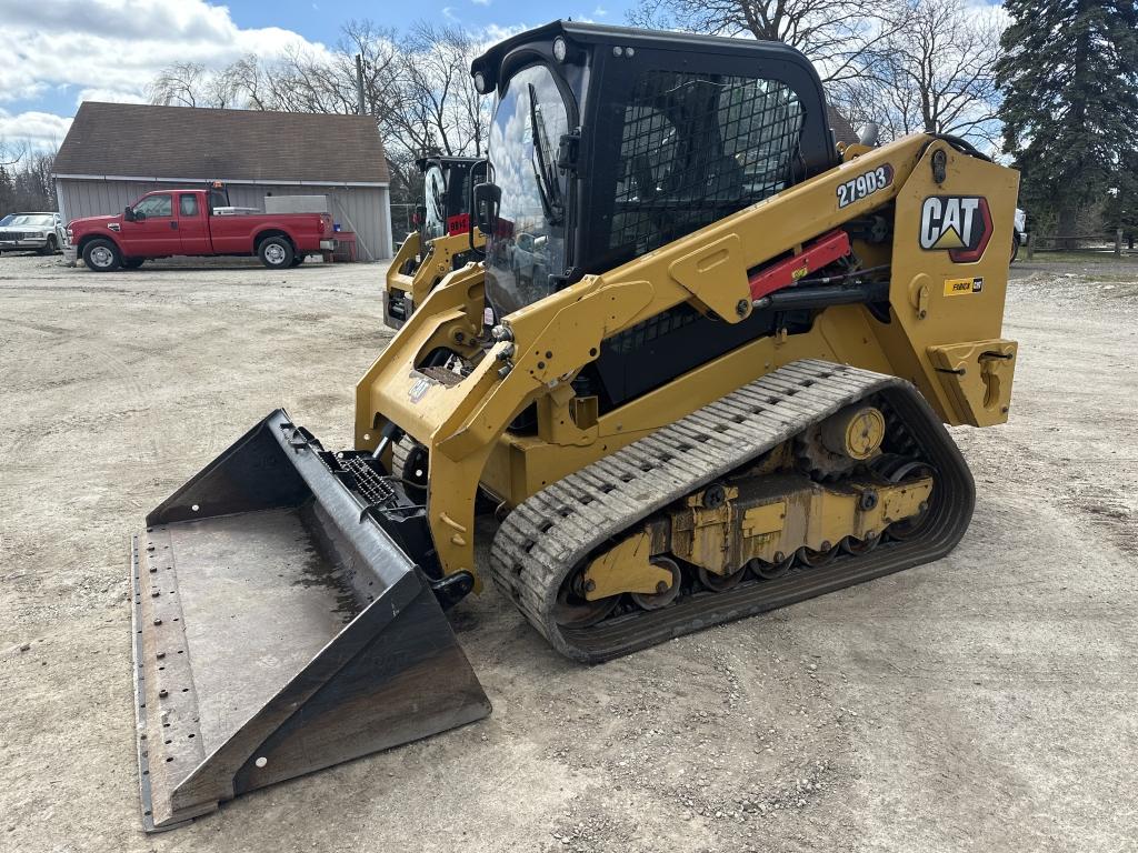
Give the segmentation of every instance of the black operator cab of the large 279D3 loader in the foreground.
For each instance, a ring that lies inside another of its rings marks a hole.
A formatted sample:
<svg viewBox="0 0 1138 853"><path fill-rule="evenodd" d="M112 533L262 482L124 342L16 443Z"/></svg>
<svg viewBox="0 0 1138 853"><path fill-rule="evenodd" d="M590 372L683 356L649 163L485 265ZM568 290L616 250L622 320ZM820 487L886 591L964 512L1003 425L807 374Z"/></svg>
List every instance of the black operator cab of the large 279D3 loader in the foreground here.
<svg viewBox="0 0 1138 853"><path fill-rule="evenodd" d="M559 20L471 74L497 93L476 189L497 316L838 163L814 67L776 42Z"/></svg>

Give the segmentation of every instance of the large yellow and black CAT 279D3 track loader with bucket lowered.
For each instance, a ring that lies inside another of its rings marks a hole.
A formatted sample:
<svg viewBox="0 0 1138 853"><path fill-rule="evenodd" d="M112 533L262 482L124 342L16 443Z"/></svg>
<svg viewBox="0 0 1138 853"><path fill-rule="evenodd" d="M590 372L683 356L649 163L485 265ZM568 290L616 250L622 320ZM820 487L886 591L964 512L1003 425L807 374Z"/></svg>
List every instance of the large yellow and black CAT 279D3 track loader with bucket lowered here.
<svg viewBox="0 0 1138 853"><path fill-rule="evenodd" d="M472 73L484 257L360 380L355 446L273 412L137 538L149 829L487 714L445 615L487 580L596 662L967 529L945 424L1007 419L1014 172L835 147L781 44L559 22Z"/></svg>

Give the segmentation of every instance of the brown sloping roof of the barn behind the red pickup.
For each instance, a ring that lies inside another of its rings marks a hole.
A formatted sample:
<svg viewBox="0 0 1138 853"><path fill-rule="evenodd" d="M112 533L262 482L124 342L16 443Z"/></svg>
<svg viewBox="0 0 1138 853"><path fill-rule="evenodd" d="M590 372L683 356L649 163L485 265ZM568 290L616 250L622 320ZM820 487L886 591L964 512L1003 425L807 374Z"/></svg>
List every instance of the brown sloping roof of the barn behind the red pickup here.
<svg viewBox="0 0 1138 853"><path fill-rule="evenodd" d="M386 184L370 116L84 101L57 176Z"/></svg>

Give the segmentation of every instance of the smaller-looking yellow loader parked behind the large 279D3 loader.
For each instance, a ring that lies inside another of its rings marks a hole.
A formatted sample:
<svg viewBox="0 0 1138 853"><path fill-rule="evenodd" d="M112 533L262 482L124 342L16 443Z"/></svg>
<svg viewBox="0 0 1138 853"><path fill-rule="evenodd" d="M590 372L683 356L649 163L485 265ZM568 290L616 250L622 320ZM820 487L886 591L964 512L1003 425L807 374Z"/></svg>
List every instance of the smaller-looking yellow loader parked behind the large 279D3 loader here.
<svg viewBox="0 0 1138 853"><path fill-rule="evenodd" d="M486 245L470 222L473 182L486 175L477 157L420 157L423 205L415 210L415 231L404 239L387 268L384 322L398 329L445 275L477 260Z"/></svg>

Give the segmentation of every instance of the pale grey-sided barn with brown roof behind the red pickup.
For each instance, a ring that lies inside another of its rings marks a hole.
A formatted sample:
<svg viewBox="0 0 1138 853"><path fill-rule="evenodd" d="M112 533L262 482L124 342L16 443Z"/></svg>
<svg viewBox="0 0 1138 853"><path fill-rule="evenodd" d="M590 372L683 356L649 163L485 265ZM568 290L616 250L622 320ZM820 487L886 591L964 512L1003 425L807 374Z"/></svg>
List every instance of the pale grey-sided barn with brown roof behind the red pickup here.
<svg viewBox="0 0 1138 853"><path fill-rule="evenodd" d="M361 259L394 254L387 157L369 116L85 101L55 180L64 222L211 181L232 205L262 210L266 196L327 196Z"/></svg>

